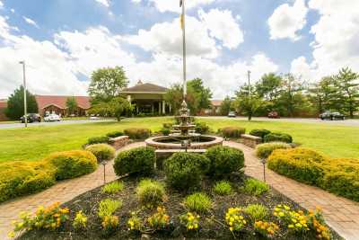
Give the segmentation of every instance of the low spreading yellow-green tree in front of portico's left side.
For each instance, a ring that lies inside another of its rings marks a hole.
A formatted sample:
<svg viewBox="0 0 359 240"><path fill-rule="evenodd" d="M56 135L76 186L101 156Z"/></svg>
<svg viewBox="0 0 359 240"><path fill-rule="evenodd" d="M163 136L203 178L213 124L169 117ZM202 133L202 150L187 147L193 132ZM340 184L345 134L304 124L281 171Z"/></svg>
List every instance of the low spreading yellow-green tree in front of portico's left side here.
<svg viewBox="0 0 359 240"><path fill-rule="evenodd" d="M109 102L98 102L92 106L90 114L115 117L118 121L121 117L133 111L133 106L123 97L115 97Z"/></svg>

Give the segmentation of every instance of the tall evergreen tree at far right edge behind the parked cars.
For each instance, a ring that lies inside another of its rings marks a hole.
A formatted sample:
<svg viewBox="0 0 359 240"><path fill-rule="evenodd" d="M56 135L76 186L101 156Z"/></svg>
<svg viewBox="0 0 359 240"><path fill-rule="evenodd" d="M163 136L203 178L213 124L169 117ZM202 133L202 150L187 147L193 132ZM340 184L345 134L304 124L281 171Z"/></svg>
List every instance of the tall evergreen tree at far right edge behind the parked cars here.
<svg viewBox="0 0 359 240"><path fill-rule="evenodd" d="M349 113L350 118L354 117L354 112L359 107L359 75L354 73L349 67L339 70L335 84L340 93L342 109Z"/></svg>

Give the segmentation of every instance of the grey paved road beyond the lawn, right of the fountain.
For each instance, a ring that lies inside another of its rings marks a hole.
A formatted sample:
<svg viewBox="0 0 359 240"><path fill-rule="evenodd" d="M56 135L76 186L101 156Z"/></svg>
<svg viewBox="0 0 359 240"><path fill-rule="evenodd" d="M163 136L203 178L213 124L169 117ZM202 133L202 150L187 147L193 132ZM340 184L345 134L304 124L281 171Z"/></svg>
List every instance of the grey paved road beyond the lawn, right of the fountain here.
<svg viewBox="0 0 359 240"><path fill-rule="evenodd" d="M237 117L230 119L228 117L198 117L198 118L210 118L210 119L221 119L221 120L248 120L246 117ZM268 119L268 118L252 118L252 120L258 121L287 121L287 122L304 122L304 123L319 123L319 124L330 124L339 126L359 127L359 120L320 120L320 119Z"/></svg>

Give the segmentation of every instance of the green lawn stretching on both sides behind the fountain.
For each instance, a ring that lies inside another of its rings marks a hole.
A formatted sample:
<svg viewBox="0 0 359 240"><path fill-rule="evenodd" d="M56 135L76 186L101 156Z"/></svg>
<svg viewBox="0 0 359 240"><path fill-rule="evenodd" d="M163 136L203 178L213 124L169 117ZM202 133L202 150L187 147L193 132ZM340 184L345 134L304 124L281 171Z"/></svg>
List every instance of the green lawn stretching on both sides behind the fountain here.
<svg viewBox="0 0 359 240"><path fill-rule="evenodd" d="M95 122L28 129L0 129L0 162L13 160L36 161L51 152L81 148L87 138L105 135L114 130L131 127L162 128L171 118L145 118L121 122ZM252 121L202 119L212 129L241 126L250 129L270 129L293 135L303 147L317 149L332 157L359 157L359 128L328 124L294 123L282 121Z"/></svg>

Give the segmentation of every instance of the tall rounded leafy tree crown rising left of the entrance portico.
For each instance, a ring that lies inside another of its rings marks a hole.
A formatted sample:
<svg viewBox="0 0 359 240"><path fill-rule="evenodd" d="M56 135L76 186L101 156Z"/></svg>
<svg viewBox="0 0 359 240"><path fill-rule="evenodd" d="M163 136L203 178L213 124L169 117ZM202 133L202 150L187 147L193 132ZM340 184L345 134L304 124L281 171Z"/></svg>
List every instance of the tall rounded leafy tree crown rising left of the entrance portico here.
<svg viewBox="0 0 359 240"><path fill-rule="evenodd" d="M109 102L118 97L120 91L127 87L128 81L123 67L105 67L92 73L88 93L92 103Z"/></svg>

